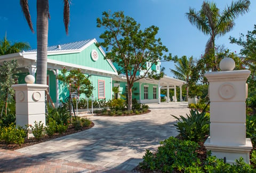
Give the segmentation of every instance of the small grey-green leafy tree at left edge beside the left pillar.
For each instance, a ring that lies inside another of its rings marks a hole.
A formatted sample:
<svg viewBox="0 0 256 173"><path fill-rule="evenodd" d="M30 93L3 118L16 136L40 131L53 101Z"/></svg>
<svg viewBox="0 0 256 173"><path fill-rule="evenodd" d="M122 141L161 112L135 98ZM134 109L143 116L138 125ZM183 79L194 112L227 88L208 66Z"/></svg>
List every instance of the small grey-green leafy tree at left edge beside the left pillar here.
<svg viewBox="0 0 256 173"><path fill-rule="evenodd" d="M4 61L2 65L0 65L0 95L3 98L5 105L5 114L7 115L7 103L9 96L13 96L15 94L12 85L15 84L15 70L18 67L17 60ZM3 106L4 106L3 105ZM4 107L3 107L4 108ZM1 117L2 117L1 111Z"/></svg>

